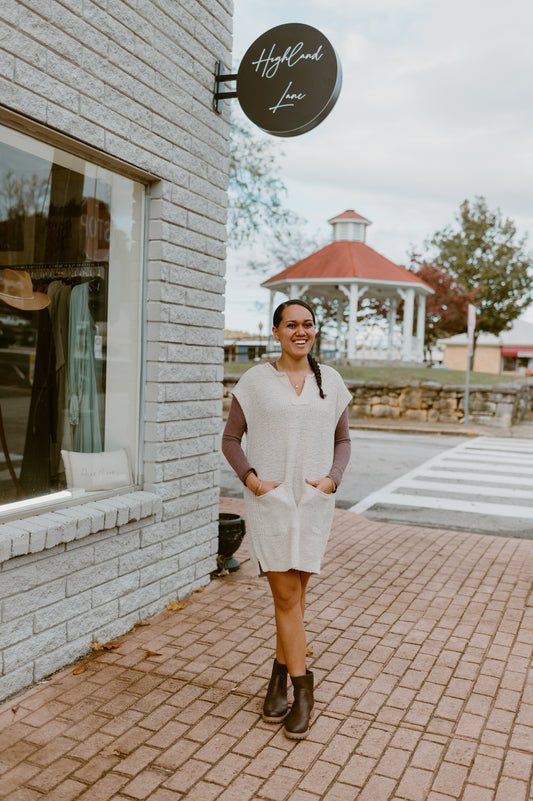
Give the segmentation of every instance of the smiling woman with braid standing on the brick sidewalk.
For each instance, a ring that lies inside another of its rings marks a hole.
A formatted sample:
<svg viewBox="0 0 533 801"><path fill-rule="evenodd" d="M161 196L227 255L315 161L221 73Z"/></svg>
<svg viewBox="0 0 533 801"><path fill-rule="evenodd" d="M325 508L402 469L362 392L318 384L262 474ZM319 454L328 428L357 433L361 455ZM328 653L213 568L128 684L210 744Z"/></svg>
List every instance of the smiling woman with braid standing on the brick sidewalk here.
<svg viewBox="0 0 533 801"><path fill-rule="evenodd" d="M305 662L305 591L311 574L320 572L332 493L350 458L351 395L336 370L311 356L315 316L307 303L278 306L272 332L281 356L251 368L235 386L222 451L245 485L250 557L274 600L276 658L263 719L284 720L287 737L302 739L314 703ZM290 712L287 673L294 688Z"/></svg>

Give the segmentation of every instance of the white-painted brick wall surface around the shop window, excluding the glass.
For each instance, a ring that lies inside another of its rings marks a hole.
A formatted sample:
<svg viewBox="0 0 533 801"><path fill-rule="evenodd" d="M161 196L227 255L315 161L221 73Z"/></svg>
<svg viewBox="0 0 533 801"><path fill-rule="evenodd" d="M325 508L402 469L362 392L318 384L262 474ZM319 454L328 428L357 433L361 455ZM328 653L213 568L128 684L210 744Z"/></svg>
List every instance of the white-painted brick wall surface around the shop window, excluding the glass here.
<svg viewBox="0 0 533 801"><path fill-rule="evenodd" d="M215 61L231 66L232 5L1 5L2 105L161 177L149 210L144 388L145 488L161 519L141 509L124 522L113 499L0 526L0 697L207 583L214 568L229 104L216 115L212 90Z"/></svg>

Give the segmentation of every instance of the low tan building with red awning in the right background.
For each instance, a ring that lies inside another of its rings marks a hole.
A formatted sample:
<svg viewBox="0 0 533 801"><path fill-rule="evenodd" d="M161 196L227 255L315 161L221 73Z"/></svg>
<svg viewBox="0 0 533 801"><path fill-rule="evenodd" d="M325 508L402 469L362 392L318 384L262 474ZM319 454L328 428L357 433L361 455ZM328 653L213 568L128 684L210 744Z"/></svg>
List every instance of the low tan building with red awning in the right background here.
<svg viewBox="0 0 533 801"><path fill-rule="evenodd" d="M466 369L466 333L441 339L440 345L444 348L443 367ZM533 323L516 320L509 331L498 336L480 334L473 369L477 373L533 375Z"/></svg>

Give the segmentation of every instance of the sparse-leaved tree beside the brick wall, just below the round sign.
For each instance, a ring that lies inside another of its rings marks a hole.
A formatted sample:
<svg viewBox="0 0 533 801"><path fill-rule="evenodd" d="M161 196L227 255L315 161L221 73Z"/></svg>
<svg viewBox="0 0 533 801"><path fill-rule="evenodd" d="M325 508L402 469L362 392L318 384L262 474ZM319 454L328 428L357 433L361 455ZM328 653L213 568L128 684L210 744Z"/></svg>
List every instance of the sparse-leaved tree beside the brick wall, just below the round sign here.
<svg viewBox="0 0 533 801"><path fill-rule="evenodd" d="M287 194L280 177L277 142L232 121L229 185L228 244L230 247L261 238L279 239L296 219L284 204Z"/></svg>

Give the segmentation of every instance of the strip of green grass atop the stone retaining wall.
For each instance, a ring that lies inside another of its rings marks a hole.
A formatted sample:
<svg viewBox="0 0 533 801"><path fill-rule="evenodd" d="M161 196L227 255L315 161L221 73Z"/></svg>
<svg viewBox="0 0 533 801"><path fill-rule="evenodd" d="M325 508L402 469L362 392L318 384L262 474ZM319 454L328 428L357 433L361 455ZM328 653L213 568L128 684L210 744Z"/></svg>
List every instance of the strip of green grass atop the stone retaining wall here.
<svg viewBox="0 0 533 801"><path fill-rule="evenodd" d="M225 375L242 375L257 362L224 362ZM335 365L345 381L376 381L391 384L397 381L433 381L436 384L464 384L464 370L444 370L438 367L355 367ZM470 386L498 386L516 381L527 383L525 376L494 375L493 373L470 373Z"/></svg>

